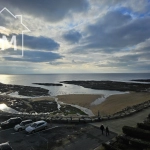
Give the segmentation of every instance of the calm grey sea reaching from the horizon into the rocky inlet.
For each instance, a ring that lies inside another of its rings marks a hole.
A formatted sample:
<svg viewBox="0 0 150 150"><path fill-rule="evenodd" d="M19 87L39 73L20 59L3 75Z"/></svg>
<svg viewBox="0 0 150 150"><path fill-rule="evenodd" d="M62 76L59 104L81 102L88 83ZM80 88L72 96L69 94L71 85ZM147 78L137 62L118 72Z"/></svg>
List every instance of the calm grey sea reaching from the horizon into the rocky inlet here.
<svg viewBox="0 0 150 150"><path fill-rule="evenodd" d="M0 75L0 82L5 84L36 86L48 89L50 95L63 94L104 94L109 95L124 93L119 91L93 90L76 85L63 84L63 86L41 86L32 83L59 83L66 80L113 80L128 81L133 79L149 79L150 73L105 73L105 74L44 74L44 75Z"/></svg>

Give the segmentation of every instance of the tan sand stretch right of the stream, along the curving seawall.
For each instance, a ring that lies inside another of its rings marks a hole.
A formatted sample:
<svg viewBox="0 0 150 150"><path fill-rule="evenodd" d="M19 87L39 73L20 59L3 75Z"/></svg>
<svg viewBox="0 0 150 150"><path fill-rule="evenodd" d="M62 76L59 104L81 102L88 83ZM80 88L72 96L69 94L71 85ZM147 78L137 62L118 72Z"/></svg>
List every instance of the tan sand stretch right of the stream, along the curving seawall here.
<svg viewBox="0 0 150 150"><path fill-rule="evenodd" d="M148 100L150 100L150 93L146 92L112 95L106 98L100 105L92 107L91 110L94 114L100 111L102 115L109 115L121 111L128 106L140 104Z"/></svg>

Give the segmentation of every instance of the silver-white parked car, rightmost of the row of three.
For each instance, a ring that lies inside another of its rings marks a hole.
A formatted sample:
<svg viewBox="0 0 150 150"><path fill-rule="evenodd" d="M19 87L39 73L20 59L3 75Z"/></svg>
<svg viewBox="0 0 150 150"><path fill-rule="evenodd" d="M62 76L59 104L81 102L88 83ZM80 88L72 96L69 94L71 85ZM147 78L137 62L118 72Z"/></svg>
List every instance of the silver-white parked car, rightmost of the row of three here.
<svg viewBox="0 0 150 150"><path fill-rule="evenodd" d="M37 121L37 122L33 122L30 126L28 126L25 131L27 133L34 133L36 131L42 130L42 129L46 129L47 128L47 122L46 121Z"/></svg>

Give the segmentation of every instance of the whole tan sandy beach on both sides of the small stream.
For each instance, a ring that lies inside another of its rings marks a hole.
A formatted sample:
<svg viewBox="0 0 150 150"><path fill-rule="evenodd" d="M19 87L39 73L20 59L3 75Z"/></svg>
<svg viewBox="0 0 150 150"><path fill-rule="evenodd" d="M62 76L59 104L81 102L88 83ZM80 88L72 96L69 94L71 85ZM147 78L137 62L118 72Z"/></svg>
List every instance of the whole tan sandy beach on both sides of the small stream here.
<svg viewBox="0 0 150 150"><path fill-rule="evenodd" d="M102 95L94 94L70 94L57 96L59 101L89 108L95 115L98 114L98 111L101 115L109 115L121 111L127 106L133 106L150 100L150 93L130 92L127 94L112 95L99 105L91 105L93 101L101 97Z"/></svg>

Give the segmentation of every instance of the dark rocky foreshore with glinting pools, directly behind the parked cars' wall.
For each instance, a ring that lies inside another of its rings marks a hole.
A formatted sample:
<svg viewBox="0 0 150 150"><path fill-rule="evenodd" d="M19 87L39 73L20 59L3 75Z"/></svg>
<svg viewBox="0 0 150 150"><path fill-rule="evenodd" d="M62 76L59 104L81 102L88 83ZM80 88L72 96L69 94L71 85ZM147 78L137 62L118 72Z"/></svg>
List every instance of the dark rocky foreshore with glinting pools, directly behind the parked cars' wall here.
<svg viewBox="0 0 150 150"><path fill-rule="evenodd" d="M86 108L85 108L86 109ZM16 98L9 95L0 95L0 111L12 114L35 113L50 114L52 116L87 116L89 115L79 107L60 104L56 97Z"/></svg>

